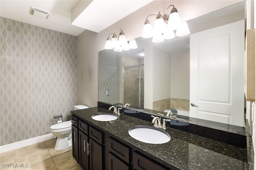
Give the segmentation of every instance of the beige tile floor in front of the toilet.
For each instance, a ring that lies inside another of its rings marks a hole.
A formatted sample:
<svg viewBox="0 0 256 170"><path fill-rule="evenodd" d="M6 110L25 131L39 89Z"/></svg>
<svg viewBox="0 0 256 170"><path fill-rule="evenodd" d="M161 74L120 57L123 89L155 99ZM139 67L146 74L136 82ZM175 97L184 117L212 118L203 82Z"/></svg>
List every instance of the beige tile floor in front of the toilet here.
<svg viewBox="0 0 256 170"><path fill-rule="evenodd" d="M55 151L56 138L0 154L1 170L82 170L72 156L72 147ZM9 164L11 167L5 167ZM10 165L13 164L13 165ZM15 166L23 167L15 167Z"/></svg>

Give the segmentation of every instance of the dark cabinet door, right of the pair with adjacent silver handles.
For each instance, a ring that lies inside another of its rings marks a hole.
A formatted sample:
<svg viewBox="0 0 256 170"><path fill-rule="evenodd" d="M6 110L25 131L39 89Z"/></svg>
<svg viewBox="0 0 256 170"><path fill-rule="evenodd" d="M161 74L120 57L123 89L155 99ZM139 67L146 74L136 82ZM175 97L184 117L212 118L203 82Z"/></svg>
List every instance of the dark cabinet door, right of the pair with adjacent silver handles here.
<svg viewBox="0 0 256 170"><path fill-rule="evenodd" d="M102 170L102 146L92 140L90 141L90 170Z"/></svg>

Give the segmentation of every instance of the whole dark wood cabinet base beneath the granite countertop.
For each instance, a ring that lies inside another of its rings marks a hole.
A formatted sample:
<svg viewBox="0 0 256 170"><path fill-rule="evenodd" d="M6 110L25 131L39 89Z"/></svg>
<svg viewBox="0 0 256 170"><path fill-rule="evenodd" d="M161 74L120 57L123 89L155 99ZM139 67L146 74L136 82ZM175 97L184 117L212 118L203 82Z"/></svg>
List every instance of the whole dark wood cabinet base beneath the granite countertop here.
<svg viewBox="0 0 256 170"><path fill-rule="evenodd" d="M126 145L108 132L76 118L72 125L72 154L84 170L170 170Z"/></svg>

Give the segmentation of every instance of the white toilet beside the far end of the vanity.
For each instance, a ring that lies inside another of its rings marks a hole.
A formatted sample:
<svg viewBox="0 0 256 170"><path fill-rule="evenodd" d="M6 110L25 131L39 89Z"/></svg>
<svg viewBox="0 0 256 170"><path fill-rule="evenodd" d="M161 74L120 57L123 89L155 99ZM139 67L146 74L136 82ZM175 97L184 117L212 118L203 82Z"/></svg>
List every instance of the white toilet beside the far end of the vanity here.
<svg viewBox="0 0 256 170"><path fill-rule="evenodd" d="M85 105L76 105L74 110L87 109L89 107ZM72 146L72 132L71 132L71 121L57 123L50 127L51 132L54 136L57 136L54 150L64 150Z"/></svg>

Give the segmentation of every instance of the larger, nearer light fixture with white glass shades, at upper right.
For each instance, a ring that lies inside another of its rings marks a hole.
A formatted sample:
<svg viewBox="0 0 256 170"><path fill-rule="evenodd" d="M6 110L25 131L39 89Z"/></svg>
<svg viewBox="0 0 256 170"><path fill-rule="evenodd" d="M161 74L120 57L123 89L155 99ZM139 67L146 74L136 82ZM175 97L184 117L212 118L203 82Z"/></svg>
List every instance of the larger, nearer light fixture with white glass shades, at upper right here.
<svg viewBox="0 0 256 170"><path fill-rule="evenodd" d="M171 6L173 8L170 12L170 15L168 15L167 11ZM148 20L149 16L156 16L154 28L152 28ZM161 11L159 11L157 15L150 14L149 16L147 16L146 21L144 22L142 37L153 37L152 42L160 43L164 40L172 39L175 36L187 36L190 34L187 22L180 21L180 16L174 5L168 6L166 9L166 14L163 14ZM176 30L175 34L174 30Z"/></svg>

